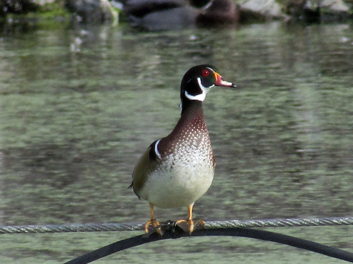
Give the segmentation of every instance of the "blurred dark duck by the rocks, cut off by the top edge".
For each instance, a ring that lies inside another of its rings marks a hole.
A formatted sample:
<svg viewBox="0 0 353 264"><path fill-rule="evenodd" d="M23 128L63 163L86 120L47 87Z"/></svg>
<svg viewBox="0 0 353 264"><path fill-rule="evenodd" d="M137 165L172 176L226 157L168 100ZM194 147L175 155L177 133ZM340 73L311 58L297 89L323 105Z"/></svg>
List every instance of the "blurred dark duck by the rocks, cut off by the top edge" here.
<svg viewBox="0 0 353 264"><path fill-rule="evenodd" d="M232 0L128 0L123 10L133 27L151 31L239 23Z"/></svg>

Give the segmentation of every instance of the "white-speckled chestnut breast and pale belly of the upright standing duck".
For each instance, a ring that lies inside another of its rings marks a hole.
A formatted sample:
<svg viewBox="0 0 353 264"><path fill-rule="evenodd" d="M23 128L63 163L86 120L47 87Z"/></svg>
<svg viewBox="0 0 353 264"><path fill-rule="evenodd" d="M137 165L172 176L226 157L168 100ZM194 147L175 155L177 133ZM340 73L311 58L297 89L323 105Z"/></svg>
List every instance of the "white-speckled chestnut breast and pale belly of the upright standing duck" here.
<svg viewBox="0 0 353 264"><path fill-rule="evenodd" d="M203 114L179 120L157 145L161 158L140 197L157 207L192 205L211 186L215 162Z"/></svg>

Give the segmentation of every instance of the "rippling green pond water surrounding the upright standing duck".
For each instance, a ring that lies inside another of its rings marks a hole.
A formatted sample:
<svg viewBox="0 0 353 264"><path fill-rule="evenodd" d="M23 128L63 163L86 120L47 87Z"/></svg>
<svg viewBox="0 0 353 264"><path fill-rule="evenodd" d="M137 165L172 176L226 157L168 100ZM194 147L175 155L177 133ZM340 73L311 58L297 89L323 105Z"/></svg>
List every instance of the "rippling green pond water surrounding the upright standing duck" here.
<svg viewBox="0 0 353 264"><path fill-rule="evenodd" d="M352 25L160 33L54 25L0 34L0 226L148 220L147 203L127 189L134 165L177 122L181 78L201 63L238 89L205 100L217 165L194 217L353 215ZM159 220L186 214L156 209ZM353 251L352 227L274 231ZM61 263L140 233L1 235L0 263ZM223 237L161 241L97 263L119 259L340 262Z"/></svg>

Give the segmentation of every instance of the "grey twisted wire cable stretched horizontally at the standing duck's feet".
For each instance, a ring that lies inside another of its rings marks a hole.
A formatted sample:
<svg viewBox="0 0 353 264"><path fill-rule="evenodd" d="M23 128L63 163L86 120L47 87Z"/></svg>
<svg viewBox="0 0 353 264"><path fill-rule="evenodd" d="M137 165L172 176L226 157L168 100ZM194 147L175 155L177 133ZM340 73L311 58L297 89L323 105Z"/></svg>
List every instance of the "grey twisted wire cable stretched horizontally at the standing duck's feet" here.
<svg viewBox="0 0 353 264"><path fill-rule="evenodd" d="M339 225L353 225L353 217L205 221L206 229L235 228L235 227L264 228L264 227L339 226ZM138 231L138 230L144 230L143 223L2 226L0 227L0 234L107 232L107 231Z"/></svg>

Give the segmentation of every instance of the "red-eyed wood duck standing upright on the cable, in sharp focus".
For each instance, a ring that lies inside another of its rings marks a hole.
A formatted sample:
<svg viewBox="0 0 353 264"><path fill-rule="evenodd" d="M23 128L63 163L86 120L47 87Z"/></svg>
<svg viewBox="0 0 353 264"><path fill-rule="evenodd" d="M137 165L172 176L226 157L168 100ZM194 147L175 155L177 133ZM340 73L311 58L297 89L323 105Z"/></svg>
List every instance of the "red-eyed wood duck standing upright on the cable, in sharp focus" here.
<svg viewBox="0 0 353 264"><path fill-rule="evenodd" d="M154 206L188 207L187 220L178 220L177 224L183 223L190 233L194 230L193 205L211 186L215 171L202 109L202 102L214 86L235 87L209 64L192 67L185 73L180 85L181 116L177 125L168 136L152 142L133 171L129 188L139 199L147 200L151 210L146 233L152 225L162 234ZM203 225L202 220L199 222Z"/></svg>

